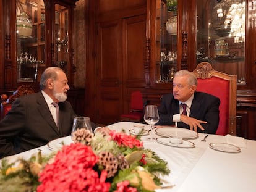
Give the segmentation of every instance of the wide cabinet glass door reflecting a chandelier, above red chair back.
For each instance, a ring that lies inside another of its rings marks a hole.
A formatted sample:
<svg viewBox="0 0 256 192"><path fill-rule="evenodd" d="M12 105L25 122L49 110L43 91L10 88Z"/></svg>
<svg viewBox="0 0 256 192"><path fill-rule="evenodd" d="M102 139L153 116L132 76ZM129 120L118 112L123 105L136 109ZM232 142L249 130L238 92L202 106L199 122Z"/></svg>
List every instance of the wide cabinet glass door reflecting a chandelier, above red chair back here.
<svg viewBox="0 0 256 192"><path fill-rule="evenodd" d="M245 84L245 0L197 0L197 64L237 75Z"/></svg>

